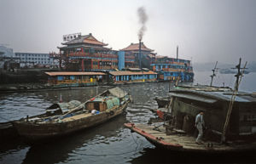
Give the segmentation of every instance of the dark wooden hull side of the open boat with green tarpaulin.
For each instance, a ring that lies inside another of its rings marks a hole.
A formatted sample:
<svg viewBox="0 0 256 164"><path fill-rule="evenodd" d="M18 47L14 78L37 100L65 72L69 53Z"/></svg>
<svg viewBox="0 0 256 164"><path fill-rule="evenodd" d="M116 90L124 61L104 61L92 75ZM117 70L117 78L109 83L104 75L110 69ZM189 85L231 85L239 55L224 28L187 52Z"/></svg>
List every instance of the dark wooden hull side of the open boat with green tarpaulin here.
<svg viewBox="0 0 256 164"><path fill-rule="evenodd" d="M102 122L107 122L115 116L119 116L129 102L119 106L119 109L113 112L102 112L100 114L79 118L68 122L51 122L51 123L32 123L32 122L13 122L17 132L21 137L29 140L49 139L59 137L70 133L94 127Z"/></svg>

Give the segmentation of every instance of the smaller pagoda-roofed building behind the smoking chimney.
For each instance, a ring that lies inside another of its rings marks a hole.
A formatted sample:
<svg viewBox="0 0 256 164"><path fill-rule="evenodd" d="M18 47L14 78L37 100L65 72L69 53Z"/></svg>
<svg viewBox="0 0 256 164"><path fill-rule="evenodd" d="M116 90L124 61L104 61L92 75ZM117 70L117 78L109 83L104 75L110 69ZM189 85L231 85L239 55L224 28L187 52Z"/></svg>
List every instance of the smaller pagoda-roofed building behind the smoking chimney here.
<svg viewBox="0 0 256 164"><path fill-rule="evenodd" d="M131 43L127 48L121 49L125 51L125 68L139 68L139 43ZM151 58L155 56L154 50L147 48L141 42L142 68L149 68Z"/></svg>

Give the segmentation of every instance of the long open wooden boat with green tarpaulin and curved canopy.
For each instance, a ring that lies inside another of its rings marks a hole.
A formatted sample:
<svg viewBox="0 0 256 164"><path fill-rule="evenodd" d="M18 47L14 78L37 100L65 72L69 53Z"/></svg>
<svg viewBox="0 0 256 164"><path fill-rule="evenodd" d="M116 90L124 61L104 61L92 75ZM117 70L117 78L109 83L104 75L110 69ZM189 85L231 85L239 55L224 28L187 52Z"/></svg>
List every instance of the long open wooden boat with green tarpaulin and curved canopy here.
<svg viewBox="0 0 256 164"><path fill-rule="evenodd" d="M50 106L41 116L22 118L12 122L20 136L26 139L45 139L93 127L119 116L131 96L120 88L108 89L66 112L60 105Z"/></svg>

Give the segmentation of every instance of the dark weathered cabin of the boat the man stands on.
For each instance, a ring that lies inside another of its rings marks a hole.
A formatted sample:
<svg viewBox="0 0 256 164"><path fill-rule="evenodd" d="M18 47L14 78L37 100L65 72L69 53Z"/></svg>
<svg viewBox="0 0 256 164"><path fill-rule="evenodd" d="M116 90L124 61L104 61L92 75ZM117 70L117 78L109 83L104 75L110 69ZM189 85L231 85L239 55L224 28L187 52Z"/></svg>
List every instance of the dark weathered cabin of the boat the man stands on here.
<svg viewBox="0 0 256 164"><path fill-rule="evenodd" d="M209 137L223 133L232 92L229 88L183 88L170 91L175 127L195 132L195 116L204 112ZM256 135L256 94L239 92L230 113L226 139L253 139Z"/></svg>

